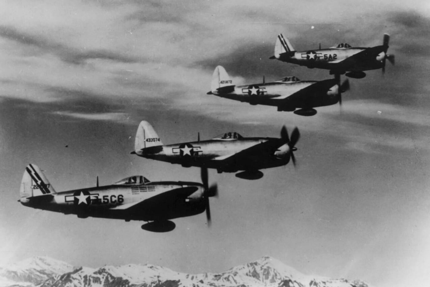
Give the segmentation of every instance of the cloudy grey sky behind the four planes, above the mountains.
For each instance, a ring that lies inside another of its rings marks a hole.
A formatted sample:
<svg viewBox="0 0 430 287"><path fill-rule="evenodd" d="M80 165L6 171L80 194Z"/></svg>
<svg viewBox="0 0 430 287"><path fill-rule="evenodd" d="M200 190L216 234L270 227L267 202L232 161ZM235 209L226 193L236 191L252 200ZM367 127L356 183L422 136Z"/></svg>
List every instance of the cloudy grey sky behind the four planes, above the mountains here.
<svg viewBox="0 0 430 287"><path fill-rule="evenodd" d="M342 111L313 117L206 95L218 64L243 84L331 77L269 60L279 33L296 49L376 46L389 33L396 66L351 79ZM305 274L378 287L427 282L429 39L427 0L1 1L0 263L47 255L199 273L270 255ZM142 119L165 144L198 131L278 136L297 126L298 166L257 181L210 171L220 191L210 229L204 214L156 234L16 202L28 163L57 191L93 186L96 176L200 180L197 168L129 154Z"/></svg>

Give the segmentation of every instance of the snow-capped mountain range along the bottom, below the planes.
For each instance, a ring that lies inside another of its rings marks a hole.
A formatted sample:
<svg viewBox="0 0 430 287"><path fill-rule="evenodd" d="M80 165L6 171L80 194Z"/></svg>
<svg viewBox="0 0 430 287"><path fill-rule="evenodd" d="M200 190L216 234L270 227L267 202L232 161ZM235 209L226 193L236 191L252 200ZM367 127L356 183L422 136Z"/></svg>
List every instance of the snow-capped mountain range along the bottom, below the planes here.
<svg viewBox="0 0 430 287"><path fill-rule="evenodd" d="M359 280L307 276L269 256L225 272L194 275L151 264L74 269L62 261L36 258L17 263L15 266L19 268L14 270L19 270L22 276L7 277L10 284L0 281L0 287L369 287ZM57 264L55 269L52 264ZM40 270L35 268L38 266Z"/></svg>

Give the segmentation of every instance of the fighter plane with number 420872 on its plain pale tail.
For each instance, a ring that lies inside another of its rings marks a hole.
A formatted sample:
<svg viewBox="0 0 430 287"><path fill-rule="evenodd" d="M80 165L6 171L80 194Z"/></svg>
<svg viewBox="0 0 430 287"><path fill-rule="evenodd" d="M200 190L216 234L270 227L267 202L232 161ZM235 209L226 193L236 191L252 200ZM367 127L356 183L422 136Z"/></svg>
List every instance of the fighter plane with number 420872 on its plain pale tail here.
<svg viewBox="0 0 430 287"><path fill-rule="evenodd" d="M340 83L340 75L323 81L301 81L288 76L275 82L251 85L233 85L224 67L218 66L212 74L208 95L247 102L252 105L278 107L278 111L293 111L301 116L316 114L314 107L342 104L341 93L349 89L349 82ZM340 89L339 89L340 87ZM296 109L299 110L296 110Z"/></svg>

